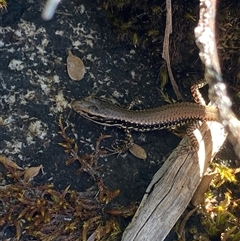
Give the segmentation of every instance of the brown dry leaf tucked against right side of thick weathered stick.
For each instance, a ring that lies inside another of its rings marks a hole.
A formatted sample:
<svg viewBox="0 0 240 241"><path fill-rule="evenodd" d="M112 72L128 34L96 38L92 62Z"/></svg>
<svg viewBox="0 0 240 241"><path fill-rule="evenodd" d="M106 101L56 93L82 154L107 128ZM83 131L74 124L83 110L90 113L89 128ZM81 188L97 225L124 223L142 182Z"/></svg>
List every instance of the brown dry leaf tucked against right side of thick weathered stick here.
<svg viewBox="0 0 240 241"><path fill-rule="evenodd" d="M197 188L197 190L195 191L195 193L193 194L191 203L194 206L197 206L198 204L202 203L204 200L204 193L209 189L210 183L212 181L212 179L217 175L217 171L205 174Z"/></svg>

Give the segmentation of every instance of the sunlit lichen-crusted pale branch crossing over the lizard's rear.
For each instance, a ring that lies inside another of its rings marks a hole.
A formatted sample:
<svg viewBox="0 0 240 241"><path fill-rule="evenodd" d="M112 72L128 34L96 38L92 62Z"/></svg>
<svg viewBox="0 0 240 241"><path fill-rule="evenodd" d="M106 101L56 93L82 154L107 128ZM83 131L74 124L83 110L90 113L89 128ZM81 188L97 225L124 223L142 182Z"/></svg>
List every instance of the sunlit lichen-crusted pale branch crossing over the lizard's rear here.
<svg viewBox="0 0 240 241"><path fill-rule="evenodd" d="M199 56L206 67L209 98L218 106L219 121L227 127L236 154L240 157L240 122L231 110L232 102L223 83L215 38L216 0L200 1L200 18L195 29Z"/></svg>

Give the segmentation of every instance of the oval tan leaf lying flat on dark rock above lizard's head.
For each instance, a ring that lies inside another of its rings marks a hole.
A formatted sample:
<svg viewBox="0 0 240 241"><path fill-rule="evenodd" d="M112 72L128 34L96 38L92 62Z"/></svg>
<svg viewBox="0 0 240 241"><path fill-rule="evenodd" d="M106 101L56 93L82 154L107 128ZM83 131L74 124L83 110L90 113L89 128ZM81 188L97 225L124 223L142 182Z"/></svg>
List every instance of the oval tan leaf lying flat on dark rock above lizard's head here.
<svg viewBox="0 0 240 241"><path fill-rule="evenodd" d="M67 71L72 80L81 80L86 73L85 66L80 58L68 52Z"/></svg>

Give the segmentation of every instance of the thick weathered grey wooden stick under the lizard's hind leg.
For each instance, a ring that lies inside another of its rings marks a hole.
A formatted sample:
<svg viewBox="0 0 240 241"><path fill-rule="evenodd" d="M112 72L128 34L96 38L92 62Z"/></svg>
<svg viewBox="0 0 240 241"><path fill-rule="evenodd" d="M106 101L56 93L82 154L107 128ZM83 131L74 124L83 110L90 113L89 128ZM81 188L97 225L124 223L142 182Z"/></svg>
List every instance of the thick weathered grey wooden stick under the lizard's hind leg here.
<svg viewBox="0 0 240 241"><path fill-rule="evenodd" d="M194 131L199 151L190 150L187 137L154 175L122 241L163 241L191 201L211 160L226 139L217 122Z"/></svg>

